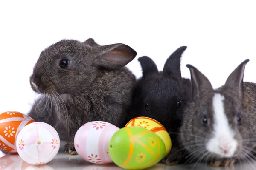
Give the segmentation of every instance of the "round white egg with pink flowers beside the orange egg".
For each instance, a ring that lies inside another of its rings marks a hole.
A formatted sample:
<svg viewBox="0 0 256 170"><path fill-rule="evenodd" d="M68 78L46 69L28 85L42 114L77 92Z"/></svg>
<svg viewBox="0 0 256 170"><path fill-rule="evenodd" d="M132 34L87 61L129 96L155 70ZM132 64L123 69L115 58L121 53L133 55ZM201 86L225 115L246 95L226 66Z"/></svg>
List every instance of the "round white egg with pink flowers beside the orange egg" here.
<svg viewBox="0 0 256 170"><path fill-rule="evenodd" d="M46 164L57 155L60 138L49 124L33 122L26 125L17 136L17 152L29 164Z"/></svg>

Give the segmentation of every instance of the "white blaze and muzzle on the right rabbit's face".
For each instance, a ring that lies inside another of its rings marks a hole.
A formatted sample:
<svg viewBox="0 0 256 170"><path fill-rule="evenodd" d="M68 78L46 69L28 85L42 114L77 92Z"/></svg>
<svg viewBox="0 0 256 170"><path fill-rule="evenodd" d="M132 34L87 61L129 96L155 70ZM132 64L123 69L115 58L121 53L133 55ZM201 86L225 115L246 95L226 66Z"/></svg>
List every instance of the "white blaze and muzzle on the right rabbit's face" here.
<svg viewBox="0 0 256 170"><path fill-rule="evenodd" d="M213 96L213 137L207 143L207 150L221 157L232 157L238 142L234 139L235 132L231 129L224 110L224 96L215 93Z"/></svg>

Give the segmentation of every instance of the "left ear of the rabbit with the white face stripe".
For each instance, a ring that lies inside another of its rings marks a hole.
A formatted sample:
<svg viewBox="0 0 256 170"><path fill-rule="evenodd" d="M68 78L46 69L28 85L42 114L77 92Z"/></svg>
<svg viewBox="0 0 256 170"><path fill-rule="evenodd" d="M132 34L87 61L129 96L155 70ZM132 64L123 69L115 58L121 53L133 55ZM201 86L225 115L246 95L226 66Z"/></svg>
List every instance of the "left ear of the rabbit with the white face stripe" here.
<svg viewBox="0 0 256 170"><path fill-rule="evenodd" d="M198 104L198 100L206 91L213 91L212 85L209 79L204 76L197 68L187 64L187 68L190 70L191 84L192 84L192 99Z"/></svg>

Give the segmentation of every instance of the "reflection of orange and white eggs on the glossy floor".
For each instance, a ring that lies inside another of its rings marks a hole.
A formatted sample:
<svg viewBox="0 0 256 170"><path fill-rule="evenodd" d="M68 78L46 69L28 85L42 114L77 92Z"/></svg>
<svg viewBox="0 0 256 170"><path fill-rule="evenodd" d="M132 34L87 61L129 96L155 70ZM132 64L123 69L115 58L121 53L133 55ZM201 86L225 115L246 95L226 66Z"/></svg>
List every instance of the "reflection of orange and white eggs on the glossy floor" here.
<svg viewBox="0 0 256 170"><path fill-rule="evenodd" d="M54 170L47 164L31 165L23 161L17 153L0 158L0 170Z"/></svg>

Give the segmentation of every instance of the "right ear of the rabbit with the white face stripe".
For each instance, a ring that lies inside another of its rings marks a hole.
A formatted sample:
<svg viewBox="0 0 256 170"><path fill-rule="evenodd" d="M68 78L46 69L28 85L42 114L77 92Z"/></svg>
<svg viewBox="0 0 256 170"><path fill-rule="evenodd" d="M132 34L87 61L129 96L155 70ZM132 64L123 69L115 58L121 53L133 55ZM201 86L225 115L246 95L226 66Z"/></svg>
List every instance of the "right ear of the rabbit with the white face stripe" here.
<svg viewBox="0 0 256 170"><path fill-rule="evenodd" d="M249 59L244 60L227 78L226 88L230 88L238 93L239 98L244 98L244 69Z"/></svg>

